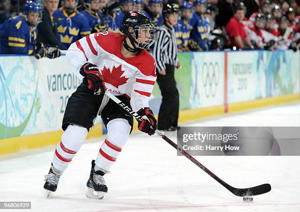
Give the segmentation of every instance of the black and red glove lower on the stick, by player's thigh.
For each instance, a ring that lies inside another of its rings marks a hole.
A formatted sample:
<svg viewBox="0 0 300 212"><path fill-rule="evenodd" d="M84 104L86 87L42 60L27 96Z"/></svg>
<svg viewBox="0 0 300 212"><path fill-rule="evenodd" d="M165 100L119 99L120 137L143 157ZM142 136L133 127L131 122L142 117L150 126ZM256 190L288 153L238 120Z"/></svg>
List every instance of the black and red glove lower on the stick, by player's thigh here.
<svg viewBox="0 0 300 212"><path fill-rule="evenodd" d="M138 129L142 132L148 133L148 135L153 135L154 131L157 128L157 121L153 115L152 110L149 107L141 108L136 112L139 114L144 120L139 122Z"/></svg>

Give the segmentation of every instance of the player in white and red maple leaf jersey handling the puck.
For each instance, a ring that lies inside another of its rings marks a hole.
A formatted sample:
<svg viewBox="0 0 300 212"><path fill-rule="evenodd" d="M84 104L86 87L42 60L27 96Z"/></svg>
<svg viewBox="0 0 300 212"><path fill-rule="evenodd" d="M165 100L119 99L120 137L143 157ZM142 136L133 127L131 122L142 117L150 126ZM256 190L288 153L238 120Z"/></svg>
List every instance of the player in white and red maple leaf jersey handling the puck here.
<svg viewBox="0 0 300 212"><path fill-rule="evenodd" d="M153 57L145 50L155 42L155 26L139 12L128 12L122 23L123 35L98 32L74 42L66 57L83 83L70 97L49 174L44 189L48 196L57 188L58 180L84 142L97 114L107 128L87 181L86 196L103 198L107 192L103 175L118 158L132 130L133 118L123 108L104 95L105 90L116 95L127 106L144 117L138 129L154 134L156 119L148 106L156 81ZM94 59L95 64L88 63ZM96 191L97 195L93 194Z"/></svg>

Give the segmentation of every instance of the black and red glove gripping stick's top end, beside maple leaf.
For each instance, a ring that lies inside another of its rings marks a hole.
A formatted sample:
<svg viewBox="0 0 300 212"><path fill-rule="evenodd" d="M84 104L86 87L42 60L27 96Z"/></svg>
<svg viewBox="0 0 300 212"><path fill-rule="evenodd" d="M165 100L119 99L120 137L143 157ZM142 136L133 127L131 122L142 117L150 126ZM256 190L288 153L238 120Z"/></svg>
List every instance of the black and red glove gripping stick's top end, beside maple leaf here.
<svg viewBox="0 0 300 212"><path fill-rule="evenodd" d="M104 85L104 79L102 74L100 74L97 65L86 63L82 65L79 73L84 76L83 83L87 85L89 89L94 91L95 95L100 95L100 93L105 92L106 87Z"/></svg>

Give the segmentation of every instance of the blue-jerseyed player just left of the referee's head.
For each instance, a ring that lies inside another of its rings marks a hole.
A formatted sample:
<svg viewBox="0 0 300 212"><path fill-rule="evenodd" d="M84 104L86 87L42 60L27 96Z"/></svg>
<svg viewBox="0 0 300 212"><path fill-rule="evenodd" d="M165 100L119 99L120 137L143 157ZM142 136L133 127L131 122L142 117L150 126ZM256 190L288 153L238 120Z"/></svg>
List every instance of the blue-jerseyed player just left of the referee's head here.
<svg viewBox="0 0 300 212"><path fill-rule="evenodd" d="M162 0L149 0L149 12L145 12L145 15L152 19L153 24L157 27L161 26L164 18L161 14Z"/></svg>

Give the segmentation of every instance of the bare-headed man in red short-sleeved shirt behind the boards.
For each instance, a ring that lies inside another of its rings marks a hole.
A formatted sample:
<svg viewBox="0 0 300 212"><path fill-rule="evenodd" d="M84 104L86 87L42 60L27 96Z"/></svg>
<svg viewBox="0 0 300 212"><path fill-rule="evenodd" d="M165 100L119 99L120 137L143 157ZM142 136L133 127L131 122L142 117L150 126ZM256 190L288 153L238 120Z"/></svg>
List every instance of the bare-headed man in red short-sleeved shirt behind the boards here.
<svg viewBox="0 0 300 212"><path fill-rule="evenodd" d="M245 17L245 7L238 6L236 8L234 17L226 25L226 32L229 37L230 45L238 49L243 49L245 47L244 42L253 49L254 46L251 44L248 34L246 32L245 26L242 23Z"/></svg>

